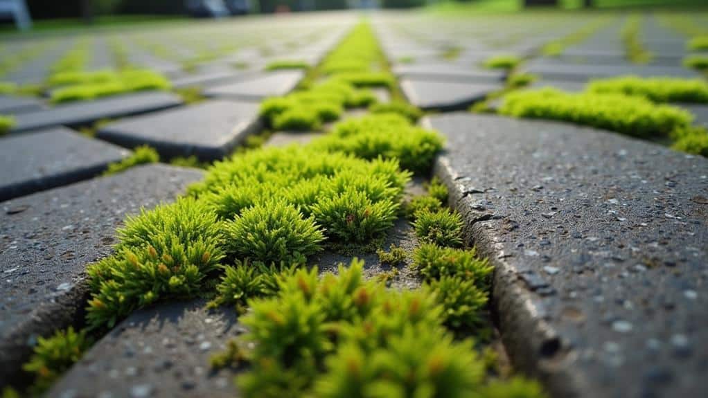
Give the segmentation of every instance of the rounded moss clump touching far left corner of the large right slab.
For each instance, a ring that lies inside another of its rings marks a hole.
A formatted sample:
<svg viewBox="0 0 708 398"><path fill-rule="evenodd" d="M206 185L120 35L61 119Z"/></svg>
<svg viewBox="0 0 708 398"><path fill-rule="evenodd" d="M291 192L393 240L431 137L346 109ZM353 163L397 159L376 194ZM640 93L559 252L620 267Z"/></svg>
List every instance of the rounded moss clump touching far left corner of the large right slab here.
<svg viewBox="0 0 708 398"><path fill-rule="evenodd" d="M423 174L432 167L442 144L442 137L435 131L415 127L399 115L380 114L340 122L330 134L310 145L364 159L396 158L401 168Z"/></svg>

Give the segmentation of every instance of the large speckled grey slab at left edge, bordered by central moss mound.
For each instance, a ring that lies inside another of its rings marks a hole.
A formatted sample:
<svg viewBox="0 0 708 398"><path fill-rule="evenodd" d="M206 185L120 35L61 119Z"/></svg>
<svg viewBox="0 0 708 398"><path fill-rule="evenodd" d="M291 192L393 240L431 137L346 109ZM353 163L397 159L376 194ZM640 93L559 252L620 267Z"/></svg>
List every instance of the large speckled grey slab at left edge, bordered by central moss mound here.
<svg viewBox="0 0 708 398"><path fill-rule="evenodd" d="M12 199L0 213L0 380L22 380L37 336L81 322L84 269L111 252L129 213L169 201L198 170L144 165Z"/></svg>

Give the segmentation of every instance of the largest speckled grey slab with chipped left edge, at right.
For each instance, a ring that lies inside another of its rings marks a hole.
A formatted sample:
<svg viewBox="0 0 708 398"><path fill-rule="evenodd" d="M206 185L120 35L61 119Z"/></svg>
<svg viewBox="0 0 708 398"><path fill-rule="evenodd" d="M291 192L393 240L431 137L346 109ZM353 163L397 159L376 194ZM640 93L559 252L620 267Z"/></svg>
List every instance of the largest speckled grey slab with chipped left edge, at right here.
<svg viewBox="0 0 708 398"><path fill-rule="evenodd" d="M556 122L424 124L518 369L554 397L704 394L708 159Z"/></svg>

